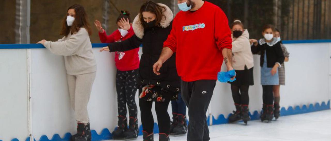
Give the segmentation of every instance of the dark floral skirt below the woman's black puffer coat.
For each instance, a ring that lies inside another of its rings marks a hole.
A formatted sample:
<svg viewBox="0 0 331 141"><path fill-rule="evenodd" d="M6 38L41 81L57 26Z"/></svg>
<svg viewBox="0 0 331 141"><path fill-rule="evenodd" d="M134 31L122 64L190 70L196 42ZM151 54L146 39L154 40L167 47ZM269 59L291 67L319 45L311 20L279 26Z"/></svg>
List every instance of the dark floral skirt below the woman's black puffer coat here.
<svg viewBox="0 0 331 141"><path fill-rule="evenodd" d="M160 86L155 85L141 85L139 88L139 99L146 101L165 102L177 100L177 94L168 91Z"/></svg>

